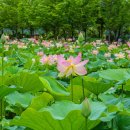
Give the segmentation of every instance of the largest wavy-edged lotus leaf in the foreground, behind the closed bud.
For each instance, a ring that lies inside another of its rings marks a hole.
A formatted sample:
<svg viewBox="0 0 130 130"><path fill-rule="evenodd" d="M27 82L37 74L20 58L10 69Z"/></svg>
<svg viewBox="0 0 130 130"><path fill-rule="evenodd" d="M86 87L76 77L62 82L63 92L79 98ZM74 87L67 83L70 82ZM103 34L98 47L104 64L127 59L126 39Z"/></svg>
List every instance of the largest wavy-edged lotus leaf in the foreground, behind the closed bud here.
<svg viewBox="0 0 130 130"><path fill-rule="evenodd" d="M64 107L66 109L63 109ZM86 120L81 115L80 109L80 104L68 101L57 102L51 107L43 108L42 111L28 108L20 119L14 119L11 124L27 126L34 130L42 130L43 128L65 130L66 126L68 130L90 130L99 123L98 121Z"/></svg>

